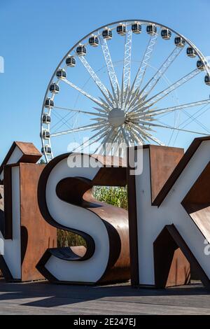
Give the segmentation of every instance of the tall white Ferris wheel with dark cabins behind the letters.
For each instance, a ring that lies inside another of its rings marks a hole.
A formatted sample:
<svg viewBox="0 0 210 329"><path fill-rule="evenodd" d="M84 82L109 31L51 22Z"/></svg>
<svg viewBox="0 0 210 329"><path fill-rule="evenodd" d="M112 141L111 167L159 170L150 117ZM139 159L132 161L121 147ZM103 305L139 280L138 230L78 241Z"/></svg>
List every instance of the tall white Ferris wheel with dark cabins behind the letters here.
<svg viewBox="0 0 210 329"><path fill-rule="evenodd" d="M210 134L207 85L207 59L173 29L146 20L100 27L73 45L50 79L42 153L50 161L87 146L90 153L112 152L105 144L184 146L189 136Z"/></svg>

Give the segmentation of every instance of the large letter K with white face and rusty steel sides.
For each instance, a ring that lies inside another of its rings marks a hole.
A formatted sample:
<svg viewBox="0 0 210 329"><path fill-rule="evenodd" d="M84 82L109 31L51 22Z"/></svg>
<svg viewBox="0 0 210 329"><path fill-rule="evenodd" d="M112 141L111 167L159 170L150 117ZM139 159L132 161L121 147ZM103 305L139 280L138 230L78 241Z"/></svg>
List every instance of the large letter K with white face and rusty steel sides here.
<svg viewBox="0 0 210 329"><path fill-rule="evenodd" d="M143 173L131 176L128 168L132 284L186 283L190 262L210 286L210 137L195 139L172 173L176 148L147 146L143 153Z"/></svg>

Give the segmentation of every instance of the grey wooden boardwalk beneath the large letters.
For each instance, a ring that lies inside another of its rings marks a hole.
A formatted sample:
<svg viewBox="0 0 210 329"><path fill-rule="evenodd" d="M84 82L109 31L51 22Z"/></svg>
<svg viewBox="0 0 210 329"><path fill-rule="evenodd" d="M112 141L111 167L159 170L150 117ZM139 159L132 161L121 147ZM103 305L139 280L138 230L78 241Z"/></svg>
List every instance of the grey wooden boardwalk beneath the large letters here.
<svg viewBox="0 0 210 329"><path fill-rule="evenodd" d="M115 286L57 286L0 280L0 314L210 314L202 284L165 290Z"/></svg>

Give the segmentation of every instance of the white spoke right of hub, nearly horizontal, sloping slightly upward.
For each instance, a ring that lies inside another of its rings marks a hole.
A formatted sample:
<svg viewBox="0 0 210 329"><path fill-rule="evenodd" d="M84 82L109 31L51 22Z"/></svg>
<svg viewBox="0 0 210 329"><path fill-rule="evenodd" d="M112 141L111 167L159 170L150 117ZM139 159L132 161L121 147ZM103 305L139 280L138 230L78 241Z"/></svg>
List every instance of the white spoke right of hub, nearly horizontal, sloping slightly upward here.
<svg viewBox="0 0 210 329"><path fill-rule="evenodd" d="M210 104L210 99L204 99L203 101L199 101L199 102L193 102L193 103L188 103L188 104L181 104L178 106L167 107L165 109L148 111L147 113L145 113L144 109L143 109L143 111L141 113L134 115L134 117L141 118L141 116L144 116L144 117L158 116L160 114L170 113L170 112L183 110L183 109L190 109L191 107L207 105L207 104Z"/></svg>

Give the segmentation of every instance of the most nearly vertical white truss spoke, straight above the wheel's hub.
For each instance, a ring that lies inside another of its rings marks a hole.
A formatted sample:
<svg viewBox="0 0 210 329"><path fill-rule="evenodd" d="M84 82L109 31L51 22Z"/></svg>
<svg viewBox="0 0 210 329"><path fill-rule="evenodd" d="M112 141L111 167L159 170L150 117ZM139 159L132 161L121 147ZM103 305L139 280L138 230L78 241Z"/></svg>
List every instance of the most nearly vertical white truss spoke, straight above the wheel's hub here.
<svg viewBox="0 0 210 329"><path fill-rule="evenodd" d="M125 94L127 87L130 87L130 69L132 55L132 30L127 30L125 34L124 63L123 63L123 88L121 92Z"/></svg>

